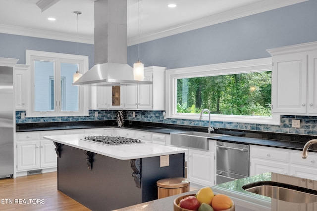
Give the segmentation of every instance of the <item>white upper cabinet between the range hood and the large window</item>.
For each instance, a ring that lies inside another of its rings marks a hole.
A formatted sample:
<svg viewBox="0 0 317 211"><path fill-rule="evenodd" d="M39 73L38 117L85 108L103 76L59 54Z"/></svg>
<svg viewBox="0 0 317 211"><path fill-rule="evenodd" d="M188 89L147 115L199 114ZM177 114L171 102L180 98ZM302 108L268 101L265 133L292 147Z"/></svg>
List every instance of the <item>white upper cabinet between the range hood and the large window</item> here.
<svg viewBox="0 0 317 211"><path fill-rule="evenodd" d="M124 109L165 110L165 67L146 67L144 77L153 84L124 86Z"/></svg>

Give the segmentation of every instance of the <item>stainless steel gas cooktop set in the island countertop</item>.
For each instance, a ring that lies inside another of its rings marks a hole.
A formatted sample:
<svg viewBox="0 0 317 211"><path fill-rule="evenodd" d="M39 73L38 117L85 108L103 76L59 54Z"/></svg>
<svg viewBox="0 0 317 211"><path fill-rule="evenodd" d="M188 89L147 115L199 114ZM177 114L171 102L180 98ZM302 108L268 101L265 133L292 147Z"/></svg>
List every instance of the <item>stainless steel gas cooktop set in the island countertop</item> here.
<svg viewBox="0 0 317 211"><path fill-rule="evenodd" d="M141 140L139 139L126 138L121 136L111 136L111 135L85 136L85 138L82 140L91 141L91 142L100 143L100 144L106 144L109 146L144 143L144 142L141 142Z"/></svg>

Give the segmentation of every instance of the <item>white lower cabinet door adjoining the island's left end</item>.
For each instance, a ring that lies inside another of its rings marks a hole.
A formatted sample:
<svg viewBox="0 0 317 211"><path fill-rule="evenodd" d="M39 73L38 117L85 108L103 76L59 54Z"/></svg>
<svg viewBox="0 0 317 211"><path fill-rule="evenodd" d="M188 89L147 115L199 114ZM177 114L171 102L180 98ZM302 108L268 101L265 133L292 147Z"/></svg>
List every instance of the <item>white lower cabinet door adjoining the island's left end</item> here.
<svg viewBox="0 0 317 211"><path fill-rule="evenodd" d="M41 168L57 167L57 155L53 141L40 141Z"/></svg>

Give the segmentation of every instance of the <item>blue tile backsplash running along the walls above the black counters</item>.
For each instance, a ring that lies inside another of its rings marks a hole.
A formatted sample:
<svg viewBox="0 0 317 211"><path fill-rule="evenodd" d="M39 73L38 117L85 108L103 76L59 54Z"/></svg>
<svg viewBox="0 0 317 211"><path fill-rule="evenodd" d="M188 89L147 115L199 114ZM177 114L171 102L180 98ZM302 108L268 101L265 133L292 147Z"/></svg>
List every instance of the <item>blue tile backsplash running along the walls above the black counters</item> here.
<svg viewBox="0 0 317 211"><path fill-rule="evenodd" d="M98 117L95 117L95 112L98 112ZM21 113L25 111L16 111L16 123L43 123L43 122L73 122L73 121L98 121L98 120L116 120L115 110L89 110L89 116L83 117L36 117L21 119ZM187 119L166 119L163 118L163 111L135 111L135 117L132 117L133 111L124 111L126 120L142 121L153 123L166 123L187 126L208 127L209 121L187 120ZM301 121L300 128L292 127L292 120L298 119ZM317 135L317 117L316 116L292 116L281 115L281 124L262 125L250 123L232 123L211 121L212 127L241 129L253 131L266 131L290 134Z"/></svg>

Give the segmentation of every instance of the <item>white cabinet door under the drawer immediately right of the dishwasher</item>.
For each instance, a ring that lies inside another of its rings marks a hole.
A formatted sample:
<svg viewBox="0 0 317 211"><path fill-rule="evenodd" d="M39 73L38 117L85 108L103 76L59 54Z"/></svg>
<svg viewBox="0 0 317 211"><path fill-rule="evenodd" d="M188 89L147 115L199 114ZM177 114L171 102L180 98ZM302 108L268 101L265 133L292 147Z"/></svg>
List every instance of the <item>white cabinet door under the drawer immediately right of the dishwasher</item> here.
<svg viewBox="0 0 317 211"><path fill-rule="evenodd" d="M264 159L251 158L250 159L250 176L254 176L265 172L275 172L281 174L289 173L289 164L268 161Z"/></svg>

